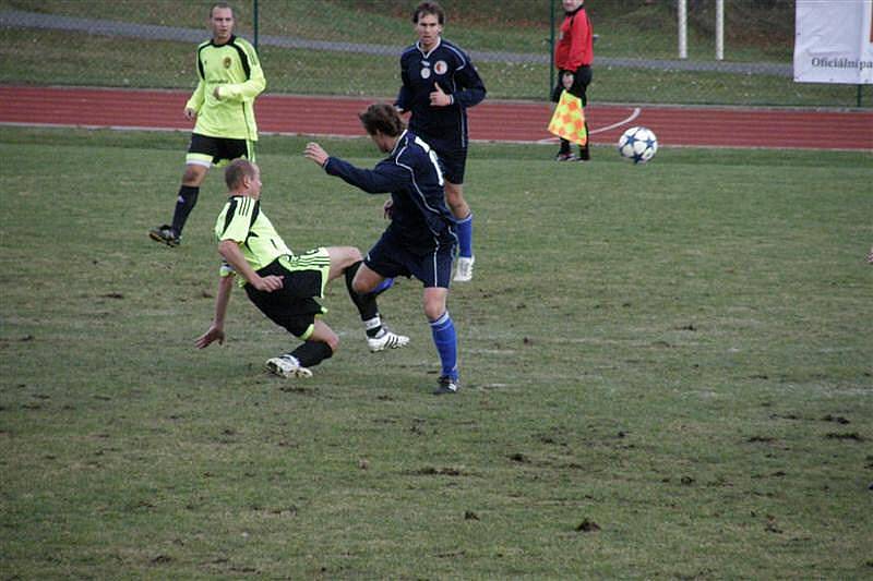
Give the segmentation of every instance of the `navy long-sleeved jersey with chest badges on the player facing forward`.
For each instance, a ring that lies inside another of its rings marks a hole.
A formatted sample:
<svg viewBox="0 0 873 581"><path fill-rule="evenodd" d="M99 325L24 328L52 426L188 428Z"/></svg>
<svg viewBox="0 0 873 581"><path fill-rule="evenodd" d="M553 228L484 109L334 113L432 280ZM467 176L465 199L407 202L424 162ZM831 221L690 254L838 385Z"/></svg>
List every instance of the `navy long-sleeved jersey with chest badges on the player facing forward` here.
<svg viewBox="0 0 873 581"><path fill-rule="evenodd" d="M439 152L466 149L467 108L486 94L467 53L443 38L427 53L416 43L400 55L400 78L395 105L412 113L409 129ZM431 107L436 84L452 98L451 105Z"/></svg>

